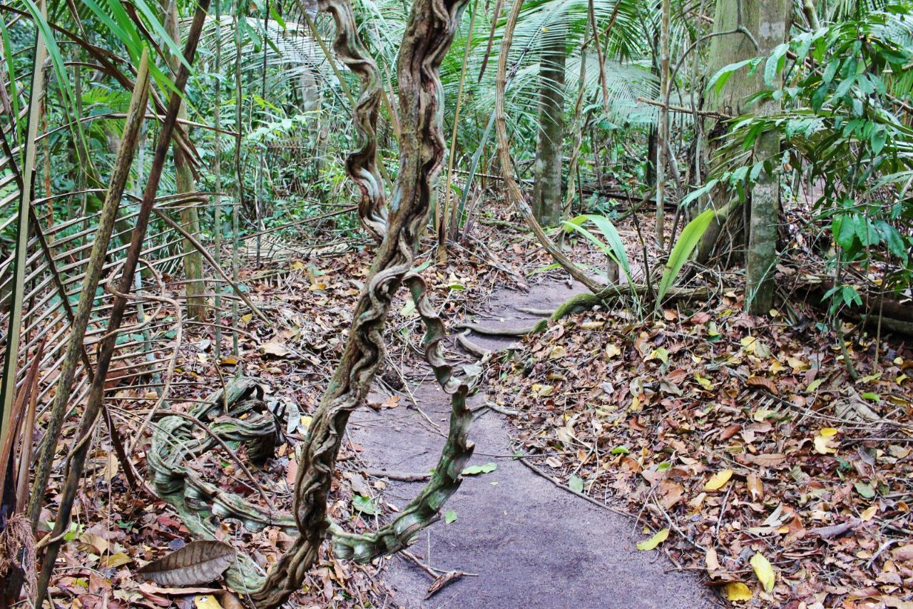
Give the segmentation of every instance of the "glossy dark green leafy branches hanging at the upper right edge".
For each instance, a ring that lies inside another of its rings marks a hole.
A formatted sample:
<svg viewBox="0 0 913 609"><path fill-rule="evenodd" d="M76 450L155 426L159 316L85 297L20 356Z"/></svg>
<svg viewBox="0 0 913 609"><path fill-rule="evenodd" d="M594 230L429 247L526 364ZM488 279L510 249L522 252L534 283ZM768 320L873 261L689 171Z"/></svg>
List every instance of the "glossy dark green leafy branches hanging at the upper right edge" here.
<svg viewBox="0 0 913 609"><path fill-rule="evenodd" d="M822 247L823 253L832 263L879 271L883 286L907 289L913 279L913 129L901 112L913 93L911 10L908 2L887 5L793 37L770 57L720 70L709 88L719 89L740 69L763 66L768 86L782 74L782 86L755 100L779 102L784 110L732 121L720 149L721 171L683 204L719 183L743 199L761 170L808 167L820 191L815 222L834 246ZM780 134L782 155L755 158L754 142L768 131ZM844 285L827 298L832 310L862 301Z"/></svg>

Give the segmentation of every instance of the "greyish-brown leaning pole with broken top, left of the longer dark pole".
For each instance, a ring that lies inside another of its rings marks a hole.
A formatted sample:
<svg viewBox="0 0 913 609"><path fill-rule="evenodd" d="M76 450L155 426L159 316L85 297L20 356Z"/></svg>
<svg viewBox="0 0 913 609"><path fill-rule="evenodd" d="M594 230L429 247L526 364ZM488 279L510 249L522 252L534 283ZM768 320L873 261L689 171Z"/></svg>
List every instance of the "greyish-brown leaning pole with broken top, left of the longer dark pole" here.
<svg viewBox="0 0 913 609"><path fill-rule="evenodd" d="M66 415L67 412L68 400L73 385L73 379L76 374L76 367L79 363L80 356L85 354L83 341L86 336L86 328L89 325L92 305L95 301L95 290L98 289L99 286L101 273L105 264L105 257L108 255L111 232L114 228L114 223L117 220L118 207L121 205L121 196L123 195L124 187L127 184L127 178L130 175L133 152L136 149L136 143L139 140L140 128L142 126L142 119L145 114L148 97L149 57L148 53L143 52L142 58L140 59L139 74L136 79L136 88L133 89L130 110L127 112L128 117L124 123L121 146L118 149L118 155L114 162L114 169L111 173L108 194L106 194L104 203L101 206L99 226L95 233L92 251L89 254L86 275L85 278L83 278L82 290L79 293L79 304L77 305L77 310L71 323L71 331L67 343L67 354L60 370L57 393L54 395L50 418L47 421L47 442L36 467L35 483L32 486L32 496L30 498L27 513L29 520L32 521L33 528L37 526L38 515L41 512L41 505L45 498L47 478L50 476L54 455L57 453L60 428L63 425L64 415ZM86 370L91 370L88 364L86 365Z"/></svg>

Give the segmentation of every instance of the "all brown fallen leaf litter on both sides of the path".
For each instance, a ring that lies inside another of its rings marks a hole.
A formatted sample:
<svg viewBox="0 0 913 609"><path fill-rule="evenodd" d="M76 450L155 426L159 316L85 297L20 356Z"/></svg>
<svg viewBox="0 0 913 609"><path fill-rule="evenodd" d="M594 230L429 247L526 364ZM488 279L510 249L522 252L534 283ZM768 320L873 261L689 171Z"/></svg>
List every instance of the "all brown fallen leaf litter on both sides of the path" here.
<svg viewBox="0 0 913 609"><path fill-rule="evenodd" d="M496 289L560 277L538 272L551 258L531 233L504 226L506 219L482 218L446 267L434 264L433 248L416 260L449 323L483 312ZM619 222L619 233L636 251L631 224ZM570 239L565 248L594 264L582 241ZM277 239L267 251L269 264L250 264L241 278L272 323L248 312L240 319L238 356L218 359L211 332L185 328L169 403L187 412L234 376L256 379L282 430L275 457L253 470L254 480L239 465L240 447L236 455L203 453L188 466L220 489L289 511L295 446L307 434L329 362L340 356L368 250L340 253ZM802 283L797 271L781 272L781 289L790 289L791 277ZM913 408L913 350L845 323L843 352L835 329L813 308L773 311L772 321L743 312L738 273L703 270L690 281L709 288L708 300L666 304L655 316L620 301L551 321L518 349L496 354L482 391L494 409L511 414L517 455L530 456L530 465L569 491L626 511L643 527L638 550L662 552L671 569L699 572L729 602L904 606L901 591L913 578L913 429L904 423ZM381 411L422 405L412 402L408 371L420 359L423 331L410 299L401 297L394 310L375 383L382 397L368 404ZM227 342L222 353L231 352ZM452 359L475 361L450 349ZM110 407L138 425L158 397L125 384ZM191 535L166 503L125 486L107 435L99 431L93 442L54 597L87 607L103 599L107 606L198 607L201 598L222 593L143 582L136 572L142 564L183 547ZM141 472L144 442L132 464ZM376 529L402 507L384 498L387 480L360 452L343 444L329 506L330 516L355 532ZM253 533L229 519L216 538L266 569L293 533ZM383 563L341 562L324 551L300 606L390 604ZM220 599L231 606L229 596Z"/></svg>

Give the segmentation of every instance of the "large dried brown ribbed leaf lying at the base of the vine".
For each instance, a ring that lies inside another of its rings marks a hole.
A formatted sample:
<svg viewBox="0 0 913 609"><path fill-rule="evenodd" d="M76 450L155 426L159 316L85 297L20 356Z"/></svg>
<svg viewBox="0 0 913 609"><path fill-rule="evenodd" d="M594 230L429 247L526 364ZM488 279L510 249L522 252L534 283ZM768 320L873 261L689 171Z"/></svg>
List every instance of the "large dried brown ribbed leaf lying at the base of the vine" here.
<svg viewBox="0 0 913 609"><path fill-rule="evenodd" d="M236 552L222 541L193 541L142 567L146 579L166 586L214 582L235 562Z"/></svg>

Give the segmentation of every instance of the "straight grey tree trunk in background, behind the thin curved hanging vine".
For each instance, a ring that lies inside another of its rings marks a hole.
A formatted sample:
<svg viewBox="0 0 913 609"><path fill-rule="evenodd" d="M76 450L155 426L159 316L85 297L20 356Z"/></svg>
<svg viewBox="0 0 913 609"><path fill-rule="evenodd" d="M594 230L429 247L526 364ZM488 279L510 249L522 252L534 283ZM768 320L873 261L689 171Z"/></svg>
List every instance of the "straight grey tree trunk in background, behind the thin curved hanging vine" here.
<svg viewBox="0 0 913 609"><path fill-rule="evenodd" d="M539 135L532 213L540 225L561 221L561 142L564 140L564 58L567 29L551 26L540 58Z"/></svg>

